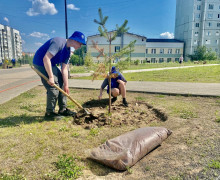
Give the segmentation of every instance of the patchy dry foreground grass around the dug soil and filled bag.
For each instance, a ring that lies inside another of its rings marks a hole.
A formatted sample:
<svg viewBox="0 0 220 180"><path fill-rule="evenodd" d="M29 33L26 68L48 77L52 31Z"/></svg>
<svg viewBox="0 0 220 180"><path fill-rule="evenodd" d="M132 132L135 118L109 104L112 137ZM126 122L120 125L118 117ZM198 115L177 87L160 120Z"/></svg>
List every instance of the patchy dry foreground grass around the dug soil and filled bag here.
<svg viewBox="0 0 220 180"><path fill-rule="evenodd" d="M96 99L98 94L98 90L70 89L71 97L80 104ZM216 179L219 176L220 98L128 92L128 101L131 107L147 103L154 110L164 112L168 120L159 120L146 106L142 112L148 114L152 121L143 125L124 124L125 114L121 116L121 125L92 129L74 124L72 117L45 121L46 90L42 86L1 104L0 179L64 180L81 176L83 180L100 177L171 180L182 177ZM70 101L68 107L76 109ZM138 121L135 113L133 110L126 112L134 122ZM146 126L167 127L173 134L127 171L115 171L87 158L87 150ZM195 171L195 167L199 170Z"/></svg>

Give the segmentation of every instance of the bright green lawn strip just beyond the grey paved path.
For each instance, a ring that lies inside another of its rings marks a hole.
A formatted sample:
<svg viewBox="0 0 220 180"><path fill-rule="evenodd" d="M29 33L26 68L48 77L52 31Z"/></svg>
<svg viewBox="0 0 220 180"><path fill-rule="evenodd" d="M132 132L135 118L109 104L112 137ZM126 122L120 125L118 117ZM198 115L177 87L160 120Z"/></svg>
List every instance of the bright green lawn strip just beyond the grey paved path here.
<svg viewBox="0 0 220 180"><path fill-rule="evenodd" d="M218 83L220 82L220 66L124 73L123 75L127 81ZM78 79L92 79L92 77Z"/></svg>

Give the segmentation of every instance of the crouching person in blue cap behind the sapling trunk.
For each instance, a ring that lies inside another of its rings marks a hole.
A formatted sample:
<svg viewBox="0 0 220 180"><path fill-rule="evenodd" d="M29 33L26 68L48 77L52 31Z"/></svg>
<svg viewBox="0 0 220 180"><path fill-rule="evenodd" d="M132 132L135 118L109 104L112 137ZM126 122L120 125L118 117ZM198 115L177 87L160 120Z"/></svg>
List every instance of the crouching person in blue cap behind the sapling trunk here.
<svg viewBox="0 0 220 180"><path fill-rule="evenodd" d="M117 96L120 94L122 95L122 103L124 106L128 107L128 102L126 101L126 79L124 76L118 72L115 68L115 66L112 66L112 78L111 78L111 95L113 98L111 99L111 102L114 103L117 100ZM100 94L99 94L99 99L102 99L102 92L107 86L107 93L109 93L109 83L108 83L108 78L105 78L103 81L101 88L100 88Z"/></svg>

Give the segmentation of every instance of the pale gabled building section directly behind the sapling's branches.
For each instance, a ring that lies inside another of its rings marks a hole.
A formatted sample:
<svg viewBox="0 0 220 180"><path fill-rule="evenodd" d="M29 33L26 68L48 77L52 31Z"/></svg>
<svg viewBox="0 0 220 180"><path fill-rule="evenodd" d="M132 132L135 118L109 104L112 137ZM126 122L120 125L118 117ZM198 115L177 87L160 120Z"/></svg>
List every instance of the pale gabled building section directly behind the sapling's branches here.
<svg viewBox="0 0 220 180"><path fill-rule="evenodd" d="M110 32L109 32L110 33ZM119 52L123 47L127 46L131 41L136 40L134 51L131 52L127 57L129 56L131 60L137 60L139 59L140 62L143 62L145 60L145 51L146 51L146 37L140 36L137 34L132 33L124 33L123 35L117 36L114 41L112 41L111 44L111 53L114 54L116 52ZM93 35L87 37L87 52L90 52L93 61L94 62L102 62L104 61L104 57L100 56L99 58L99 52L93 47L92 41L97 42L100 49L104 49L105 54L109 54L109 42L107 39L100 35ZM124 60L126 57L121 59L114 59L113 62L116 63L119 60Z"/></svg>

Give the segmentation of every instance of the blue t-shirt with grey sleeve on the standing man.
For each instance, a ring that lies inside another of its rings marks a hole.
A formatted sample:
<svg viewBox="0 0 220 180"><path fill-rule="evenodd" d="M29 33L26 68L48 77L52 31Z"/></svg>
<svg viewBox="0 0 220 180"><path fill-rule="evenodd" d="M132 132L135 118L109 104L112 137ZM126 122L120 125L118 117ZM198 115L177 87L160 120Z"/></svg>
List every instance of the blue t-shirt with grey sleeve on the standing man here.
<svg viewBox="0 0 220 180"><path fill-rule="evenodd" d="M55 37L44 43L35 53L33 64L44 66L43 58L47 51L53 55L53 58L51 59L52 66L60 63L68 63L70 48L66 47L66 39Z"/></svg>

